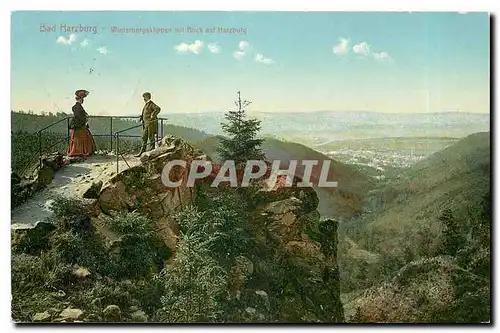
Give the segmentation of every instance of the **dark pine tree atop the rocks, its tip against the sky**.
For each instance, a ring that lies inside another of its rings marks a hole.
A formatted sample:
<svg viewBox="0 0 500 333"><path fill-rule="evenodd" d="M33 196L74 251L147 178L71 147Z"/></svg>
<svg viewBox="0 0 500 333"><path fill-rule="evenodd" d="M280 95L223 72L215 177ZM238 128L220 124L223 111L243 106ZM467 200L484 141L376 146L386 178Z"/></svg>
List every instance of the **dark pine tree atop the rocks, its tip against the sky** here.
<svg viewBox="0 0 500 333"><path fill-rule="evenodd" d="M228 111L225 115L227 123L222 123L222 130L227 137L221 138L217 147L221 159L233 160L236 165L245 163L247 160L260 160L264 157L261 150L263 139L257 138L260 131L260 121L247 118L245 108L250 101L242 101L238 91L238 99L235 101L238 107L235 111Z"/></svg>

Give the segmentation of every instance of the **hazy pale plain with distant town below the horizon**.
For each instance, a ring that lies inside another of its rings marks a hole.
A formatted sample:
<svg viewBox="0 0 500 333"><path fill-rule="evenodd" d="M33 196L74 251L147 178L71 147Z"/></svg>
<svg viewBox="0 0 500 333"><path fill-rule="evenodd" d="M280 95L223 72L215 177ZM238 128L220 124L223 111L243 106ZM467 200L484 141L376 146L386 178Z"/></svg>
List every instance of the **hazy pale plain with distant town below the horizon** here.
<svg viewBox="0 0 500 333"><path fill-rule="evenodd" d="M489 131L489 114L375 112L249 112L262 120L262 135L298 142L339 162L409 167L461 138ZM175 125L220 135L223 113L163 115Z"/></svg>

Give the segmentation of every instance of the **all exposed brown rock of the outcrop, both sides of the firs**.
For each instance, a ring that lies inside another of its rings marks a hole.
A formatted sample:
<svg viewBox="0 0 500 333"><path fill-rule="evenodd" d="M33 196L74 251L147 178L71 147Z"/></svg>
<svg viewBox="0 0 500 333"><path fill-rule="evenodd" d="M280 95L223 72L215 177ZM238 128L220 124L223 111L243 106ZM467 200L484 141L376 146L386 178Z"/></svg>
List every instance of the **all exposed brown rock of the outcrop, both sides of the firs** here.
<svg viewBox="0 0 500 333"><path fill-rule="evenodd" d="M187 167L174 167L170 172L172 181L187 180L193 160L210 160L186 142L167 137L161 147L143 154L140 165L114 175L99 186L95 199L87 199L88 210L93 212L92 224L109 240L111 252L123 247L124 235L107 229L106 223L102 223L105 216L136 211L150 217L155 233L174 254L166 264L175 258L180 232L173 217L194 202L196 191L185 182L176 188L163 184L163 167L173 159L185 160ZM295 184L301 181L292 177ZM201 182L208 184L211 180L212 175ZM264 322L342 322L337 222L320 220L314 189L286 187L280 181L269 187L263 180L255 180L253 185L258 190L249 191L256 209L248 223L257 247L272 254L265 259L238 256L228 271L228 291L235 302L244 305L242 318ZM259 283L257 276L266 269L266 260L277 265L275 275L268 275L276 280ZM281 291L268 288L269 284L280 285ZM279 307L279 315L273 306ZM147 316L136 313L134 320L146 321Z"/></svg>

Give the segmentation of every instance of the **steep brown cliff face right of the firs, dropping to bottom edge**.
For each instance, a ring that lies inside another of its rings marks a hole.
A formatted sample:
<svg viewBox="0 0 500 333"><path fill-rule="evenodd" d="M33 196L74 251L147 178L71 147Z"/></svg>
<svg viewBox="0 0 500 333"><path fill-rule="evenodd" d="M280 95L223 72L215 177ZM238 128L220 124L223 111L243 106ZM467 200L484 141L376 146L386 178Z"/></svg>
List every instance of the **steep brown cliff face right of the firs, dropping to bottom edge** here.
<svg viewBox="0 0 500 333"><path fill-rule="evenodd" d="M301 285L301 290L296 291L302 299L287 299L284 316L287 321L300 318L300 321L342 322L344 311L337 265L338 223L331 219L320 220L315 209L305 207L301 200L292 196L267 204L260 213L267 219L267 243L273 244L280 260L294 272L291 273L294 277L285 277L289 283L285 288L296 289L297 283Z"/></svg>

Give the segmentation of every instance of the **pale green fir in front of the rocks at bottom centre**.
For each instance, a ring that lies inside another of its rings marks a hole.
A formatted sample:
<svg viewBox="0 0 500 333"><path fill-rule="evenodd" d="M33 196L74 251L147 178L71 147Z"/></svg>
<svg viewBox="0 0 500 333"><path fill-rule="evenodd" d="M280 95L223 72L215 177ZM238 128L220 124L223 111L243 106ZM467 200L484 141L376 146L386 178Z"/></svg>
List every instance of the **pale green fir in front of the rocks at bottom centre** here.
<svg viewBox="0 0 500 333"><path fill-rule="evenodd" d="M227 278L210 249L217 235L207 233L203 224L209 223L194 207L186 209L176 219L181 226L181 239L174 263L162 272L165 281L162 320L220 321Z"/></svg>

